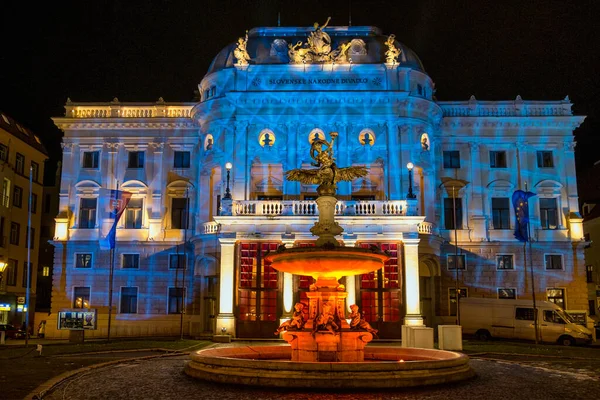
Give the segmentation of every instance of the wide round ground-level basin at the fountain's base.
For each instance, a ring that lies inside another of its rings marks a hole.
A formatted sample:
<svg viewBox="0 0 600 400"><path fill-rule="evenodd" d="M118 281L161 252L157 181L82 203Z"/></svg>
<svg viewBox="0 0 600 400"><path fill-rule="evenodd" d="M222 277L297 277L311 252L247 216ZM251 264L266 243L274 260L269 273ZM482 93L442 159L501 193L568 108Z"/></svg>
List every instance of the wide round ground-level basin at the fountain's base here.
<svg viewBox="0 0 600 400"><path fill-rule="evenodd" d="M321 389L385 389L475 376L469 358L444 350L373 347L364 362L292 362L290 346L222 347L190 355L185 373L227 384Z"/></svg>

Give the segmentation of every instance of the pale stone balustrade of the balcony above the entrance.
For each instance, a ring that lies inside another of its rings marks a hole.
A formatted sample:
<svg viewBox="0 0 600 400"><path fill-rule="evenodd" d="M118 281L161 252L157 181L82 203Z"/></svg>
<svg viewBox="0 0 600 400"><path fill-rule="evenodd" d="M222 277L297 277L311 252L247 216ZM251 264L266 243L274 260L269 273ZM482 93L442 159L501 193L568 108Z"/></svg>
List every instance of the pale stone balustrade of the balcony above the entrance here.
<svg viewBox="0 0 600 400"><path fill-rule="evenodd" d="M406 215L406 201L343 201L335 206L336 215ZM319 215L314 200L239 200L233 202L232 215Z"/></svg>

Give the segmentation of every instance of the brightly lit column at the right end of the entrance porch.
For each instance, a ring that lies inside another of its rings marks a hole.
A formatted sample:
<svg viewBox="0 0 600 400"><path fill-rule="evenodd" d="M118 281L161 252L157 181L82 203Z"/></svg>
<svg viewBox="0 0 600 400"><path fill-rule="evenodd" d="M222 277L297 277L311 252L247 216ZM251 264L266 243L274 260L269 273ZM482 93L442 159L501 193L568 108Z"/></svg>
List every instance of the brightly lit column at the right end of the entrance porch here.
<svg viewBox="0 0 600 400"><path fill-rule="evenodd" d="M406 288L404 300L406 303L405 325L423 325L421 316L421 295L419 292L419 238L416 234L405 234L404 266Z"/></svg>

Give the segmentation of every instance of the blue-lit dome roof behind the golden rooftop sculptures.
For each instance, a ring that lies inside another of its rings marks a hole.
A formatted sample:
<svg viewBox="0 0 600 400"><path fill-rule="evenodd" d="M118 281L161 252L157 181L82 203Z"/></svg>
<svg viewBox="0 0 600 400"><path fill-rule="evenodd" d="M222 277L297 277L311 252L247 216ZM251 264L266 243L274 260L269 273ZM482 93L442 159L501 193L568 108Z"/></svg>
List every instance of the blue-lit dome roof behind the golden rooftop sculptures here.
<svg viewBox="0 0 600 400"><path fill-rule="evenodd" d="M251 65L288 64L288 45L302 42L305 44L315 28L277 27L254 28L248 32L246 49L251 58ZM332 50L341 44L350 43L348 57L354 64L381 64L386 60L385 44L388 36L372 26L334 26L323 29L331 37ZM401 50L398 63L403 67L425 72L419 57L404 44L394 41L396 48ZM208 68L208 73L231 68L236 63L233 55L237 43L231 43L217 54Z"/></svg>

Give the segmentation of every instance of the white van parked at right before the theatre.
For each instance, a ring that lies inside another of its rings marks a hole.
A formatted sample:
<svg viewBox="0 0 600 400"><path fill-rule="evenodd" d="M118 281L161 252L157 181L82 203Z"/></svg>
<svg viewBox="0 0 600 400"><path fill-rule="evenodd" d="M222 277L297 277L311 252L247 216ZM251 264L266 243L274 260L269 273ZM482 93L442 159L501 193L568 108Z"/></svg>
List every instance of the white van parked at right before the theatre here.
<svg viewBox="0 0 600 400"><path fill-rule="evenodd" d="M566 346L590 343L592 331L575 323L562 308L550 301L536 301L538 338ZM460 324L463 334L479 339L493 337L535 340L532 300L460 299Z"/></svg>

